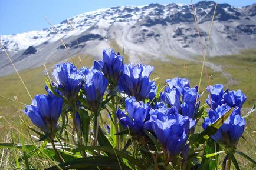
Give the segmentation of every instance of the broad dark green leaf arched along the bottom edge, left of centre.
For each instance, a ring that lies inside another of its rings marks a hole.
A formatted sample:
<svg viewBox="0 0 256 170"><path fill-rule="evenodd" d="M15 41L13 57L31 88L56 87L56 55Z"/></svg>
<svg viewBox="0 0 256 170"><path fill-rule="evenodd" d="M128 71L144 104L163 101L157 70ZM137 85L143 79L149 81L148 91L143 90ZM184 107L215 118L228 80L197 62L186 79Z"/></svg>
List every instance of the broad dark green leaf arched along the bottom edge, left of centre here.
<svg viewBox="0 0 256 170"><path fill-rule="evenodd" d="M128 170L130 169L128 166L123 163L117 162L116 159L103 157L103 156L92 156L87 158L78 158L74 159L70 162L65 162L63 164L59 164L62 169L89 169L89 170L98 170L98 169L114 169L114 170ZM58 169L56 166L52 166L46 170L54 170Z"/></svg>

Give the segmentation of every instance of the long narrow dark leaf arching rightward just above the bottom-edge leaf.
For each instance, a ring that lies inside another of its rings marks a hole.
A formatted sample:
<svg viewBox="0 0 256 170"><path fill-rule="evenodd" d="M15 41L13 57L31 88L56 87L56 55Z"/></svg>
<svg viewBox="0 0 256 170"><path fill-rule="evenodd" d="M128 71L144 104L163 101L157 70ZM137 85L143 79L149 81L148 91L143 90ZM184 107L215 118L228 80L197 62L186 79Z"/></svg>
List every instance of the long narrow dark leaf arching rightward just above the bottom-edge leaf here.
<svg viewBox="0 0 256 170"><path fill-rule="evenodd" d="M136 159L134 159L132 156L130 156L129 154L127 154L127 152L124 151L119 151L116 150L112 147L107 147L107 146L80 146L79 148L74 149L74 152L80 152L80 151L84 151L84 150L88 150L88 151L104 151L104 152L108 152L110 154L113 155L117 155L119 158L124 158L127 161L130 161L132 164L137 165L140 168L145 168L141 162L136 161Z"/></svg>

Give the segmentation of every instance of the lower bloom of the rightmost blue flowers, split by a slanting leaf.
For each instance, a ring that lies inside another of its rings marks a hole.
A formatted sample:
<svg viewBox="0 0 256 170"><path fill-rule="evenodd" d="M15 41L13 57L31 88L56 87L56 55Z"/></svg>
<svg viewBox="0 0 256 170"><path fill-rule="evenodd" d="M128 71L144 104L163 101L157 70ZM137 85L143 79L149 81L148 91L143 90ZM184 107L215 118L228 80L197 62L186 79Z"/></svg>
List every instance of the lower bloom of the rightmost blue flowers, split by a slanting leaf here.
<svg viewBox="0 0 256 170"><path fill-rule="evenodd" d="M213 124L219 117L225 114L230 109L228 105L218 106L215 110L208 111L208 118L205 118L202 124L206 129L210 124ZM211 136L216 142L228 146L236 146L239 138L244 132L245 119L241 117L239 108L235 108L228 119L221 125L215 135Z"/></svg>

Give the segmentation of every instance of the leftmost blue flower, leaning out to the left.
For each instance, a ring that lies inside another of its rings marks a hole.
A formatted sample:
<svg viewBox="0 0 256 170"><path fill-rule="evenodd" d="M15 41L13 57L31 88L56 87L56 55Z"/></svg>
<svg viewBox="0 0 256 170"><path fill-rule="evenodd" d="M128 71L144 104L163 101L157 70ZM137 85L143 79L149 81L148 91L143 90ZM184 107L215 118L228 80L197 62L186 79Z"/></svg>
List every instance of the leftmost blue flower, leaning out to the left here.
<svg viewBox="0 0 256 170"><path fill-rule="evenodd" d="M35 126L45 133L53 133L57 129L63 99L53 95L35 95L31 105L25 106L25 114Z"/></svg>

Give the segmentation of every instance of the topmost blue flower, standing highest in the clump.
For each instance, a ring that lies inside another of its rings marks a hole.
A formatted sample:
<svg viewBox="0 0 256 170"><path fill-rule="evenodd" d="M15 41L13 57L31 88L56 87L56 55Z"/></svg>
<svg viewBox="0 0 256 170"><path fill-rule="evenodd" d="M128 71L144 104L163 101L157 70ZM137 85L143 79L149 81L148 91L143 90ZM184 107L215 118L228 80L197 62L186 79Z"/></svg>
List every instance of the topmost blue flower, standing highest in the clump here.
<svg viewBox="0 0 256 170"><path fill-rule="evenodd" d="M103 60L94 61L93 68L102 71L110 84L116 86L123 69L123 56L119 52L115 54L114 49L105 49Z"/></svg>

